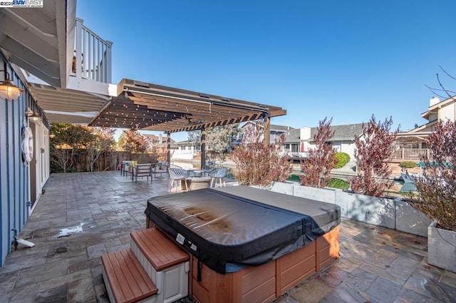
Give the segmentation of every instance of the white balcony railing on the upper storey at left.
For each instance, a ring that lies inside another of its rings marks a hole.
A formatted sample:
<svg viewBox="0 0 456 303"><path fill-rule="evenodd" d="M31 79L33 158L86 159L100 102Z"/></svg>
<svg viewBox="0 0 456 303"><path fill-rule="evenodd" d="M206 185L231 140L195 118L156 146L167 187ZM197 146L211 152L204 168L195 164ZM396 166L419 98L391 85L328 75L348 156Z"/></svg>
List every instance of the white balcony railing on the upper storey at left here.
<svg viewBox="0 0 456 303"><path fill-rule="evenodd" d="M76 18L76 41L73 56L73 75L98 82L111 83L112 55L110 41L90 31L82 19Z"/></svg>

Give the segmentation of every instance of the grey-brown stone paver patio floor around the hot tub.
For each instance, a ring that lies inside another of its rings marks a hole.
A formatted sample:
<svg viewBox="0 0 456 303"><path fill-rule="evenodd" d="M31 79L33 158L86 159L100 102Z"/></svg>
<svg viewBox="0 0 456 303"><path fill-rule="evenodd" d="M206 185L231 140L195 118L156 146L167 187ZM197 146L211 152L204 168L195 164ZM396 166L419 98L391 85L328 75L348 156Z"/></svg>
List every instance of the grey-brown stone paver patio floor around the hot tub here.
<svg viewBox="0 0 456 303"><path fill-rule="evenodd" d="M108 302L100 255L130 247L147 199L167 193L118 171L53 174L0 268L0 302ZM456 302L456 274L427 265L423 237L342 220L341 258L276 302ZM182 299L181 302L191 302Z"/></svg>

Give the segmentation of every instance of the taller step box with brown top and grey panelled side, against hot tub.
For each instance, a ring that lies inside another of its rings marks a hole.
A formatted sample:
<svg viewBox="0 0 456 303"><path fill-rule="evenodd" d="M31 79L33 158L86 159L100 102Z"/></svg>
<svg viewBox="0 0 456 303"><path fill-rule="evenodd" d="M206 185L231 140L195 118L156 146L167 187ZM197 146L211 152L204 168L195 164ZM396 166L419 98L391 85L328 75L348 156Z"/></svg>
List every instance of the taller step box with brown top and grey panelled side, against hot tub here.
<svg viewBox="0 0 456 303"><path fill-rule="evenodd" d="M189 255L157 228L130 234L130 247L152 282L157 302L175 302L188 294Z"/></svg>

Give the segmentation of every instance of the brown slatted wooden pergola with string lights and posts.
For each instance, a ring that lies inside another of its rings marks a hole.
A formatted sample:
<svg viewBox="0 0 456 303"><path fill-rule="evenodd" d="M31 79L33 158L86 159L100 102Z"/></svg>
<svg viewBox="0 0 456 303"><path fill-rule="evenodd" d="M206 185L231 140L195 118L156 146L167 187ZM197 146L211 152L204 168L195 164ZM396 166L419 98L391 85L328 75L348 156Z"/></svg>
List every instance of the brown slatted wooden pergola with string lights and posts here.
<svg viewBox="0 0 456 303"><path fill-rule="evenodd" d="M171 133L201 130L203 166L206 128L263 119L264 142L268 144L270 118L279 115L286 115L286 110L276 106L123 79L118 84L118 96L113 97L89 125L163 131L167 133L168 162Z"/></svg>

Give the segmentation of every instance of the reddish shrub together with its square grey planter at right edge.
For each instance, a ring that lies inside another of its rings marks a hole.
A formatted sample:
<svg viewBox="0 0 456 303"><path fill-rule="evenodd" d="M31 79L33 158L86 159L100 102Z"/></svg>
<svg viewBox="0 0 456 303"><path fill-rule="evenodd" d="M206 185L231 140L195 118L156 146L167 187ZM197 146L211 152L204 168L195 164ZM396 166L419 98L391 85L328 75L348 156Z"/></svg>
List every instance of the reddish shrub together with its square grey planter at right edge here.
<svg viewBox="0 0 456 303"><path fill-rule="evenodd" d="M427 138L430 158L415 178L412 207L433 222L427 228L427 263L456 272L456 123L439 121Z"/></svg>

